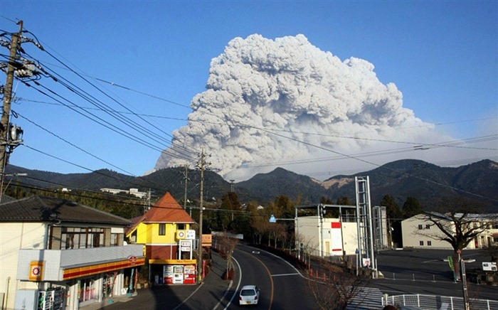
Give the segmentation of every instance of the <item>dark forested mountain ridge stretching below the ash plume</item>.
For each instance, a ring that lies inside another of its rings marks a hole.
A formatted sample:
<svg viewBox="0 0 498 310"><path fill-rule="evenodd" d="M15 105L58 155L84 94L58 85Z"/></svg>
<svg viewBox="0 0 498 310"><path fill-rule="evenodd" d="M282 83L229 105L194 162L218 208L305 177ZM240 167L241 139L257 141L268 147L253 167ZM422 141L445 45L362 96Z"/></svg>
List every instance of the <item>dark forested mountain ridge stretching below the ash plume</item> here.
<svg viewBox="0 0 498 310"><path fill-rule="evenodd" d="M158 197L169 191L178 201L183 200L185 193L185 170L179 167L160 169L147 176L127 176L108 169L63 174L11 165L6 168L6 173L27 173L28 176L16 179L43 188L66 187L88 191L100 191L100 188L150 189ZM189 170L187 174L187 198L196 201L200 196L201 173ZM242 203L254 201L264 205L277 196L287 196L300 204L314 204L319 203L322 197L332 201L348 197L355 201L356 176L369 176L372 205L378 205L385 195L393 196L400 207L407 197L416 197L426 208L443 196L466 197L498 211L498 163L489 159L459 167L441 167L416 159L402 159L370 171L332 176L325 181L280 167L238 183L230 183L213 171L204 171L203 186L206 201L214 201L233 190ZM11 186L16 183L15 180L9 182Z"/></svg>

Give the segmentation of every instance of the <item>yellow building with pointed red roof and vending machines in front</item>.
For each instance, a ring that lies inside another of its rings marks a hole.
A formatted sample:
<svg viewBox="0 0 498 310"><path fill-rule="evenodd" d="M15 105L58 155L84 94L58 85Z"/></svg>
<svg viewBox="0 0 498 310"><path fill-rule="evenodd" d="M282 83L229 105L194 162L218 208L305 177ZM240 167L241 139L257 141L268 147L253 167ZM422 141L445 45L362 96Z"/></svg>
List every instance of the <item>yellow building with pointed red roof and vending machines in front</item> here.
<svg viewBox="0 0 498 310"><path fill-rule="evenodd" d="M149 280L157 284L195 284L194 220L166 193L126 232L131 244L145 245Z"/></svg>

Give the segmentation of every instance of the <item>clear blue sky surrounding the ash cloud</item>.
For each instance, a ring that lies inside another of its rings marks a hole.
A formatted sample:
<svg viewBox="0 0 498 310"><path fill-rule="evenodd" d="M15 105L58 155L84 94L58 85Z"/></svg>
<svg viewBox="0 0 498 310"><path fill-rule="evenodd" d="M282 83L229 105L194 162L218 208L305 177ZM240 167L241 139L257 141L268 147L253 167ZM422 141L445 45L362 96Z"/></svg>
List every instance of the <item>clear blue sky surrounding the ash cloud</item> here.
<svg viewBox="0 0 498 310"><path fill-rule="evenodd" d="M129 109L153 115L161 135L186 124L192 98L205 90L211 59L233 38L254 33L270 39L302 33L341 60L369 61L378 80L401 90L403 107L455 139L497 134L497 16L498 1L0 2L1 31L18 31L14 21L23 20L61 63ZM23 48L33 58L60 66L28 44ZM23 127L25 145L11 155L11 164L61 173L108 168L142 175L154 168L157 149L53 105L28 87L14 87L20 99L12 109L25 118L12 122ZM498 147L496 139L491 146ZM477 152L469 160L489 154Z"/></svg>

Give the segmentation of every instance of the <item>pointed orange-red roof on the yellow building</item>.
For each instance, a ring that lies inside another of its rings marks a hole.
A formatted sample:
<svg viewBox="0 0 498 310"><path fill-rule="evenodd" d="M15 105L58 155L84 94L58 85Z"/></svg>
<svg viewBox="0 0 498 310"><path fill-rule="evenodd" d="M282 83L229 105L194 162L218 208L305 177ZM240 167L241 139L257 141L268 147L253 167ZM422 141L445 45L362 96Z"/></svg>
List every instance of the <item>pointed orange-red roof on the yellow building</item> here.
<svg viewBox="0 0 498 310"><path fill-rule="evenodd" d="M195 223L184 208L176 202L170 193L162 196L152 208L144 214L142 223Z"/></svg>

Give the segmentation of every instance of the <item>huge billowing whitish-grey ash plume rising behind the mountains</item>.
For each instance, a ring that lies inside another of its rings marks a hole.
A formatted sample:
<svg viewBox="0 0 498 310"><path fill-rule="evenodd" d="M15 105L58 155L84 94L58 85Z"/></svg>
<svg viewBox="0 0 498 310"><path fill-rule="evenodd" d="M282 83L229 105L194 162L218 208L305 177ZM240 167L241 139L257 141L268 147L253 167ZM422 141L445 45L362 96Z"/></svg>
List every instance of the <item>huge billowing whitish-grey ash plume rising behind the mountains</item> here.
<svg viewBox="0 0 498 310"><path fill-rule="evenodd" d="M211 61L206 88L192 100L188 124L174 132L175 144L166 151L204 149L211 169L237 181L277 166L306 174L285 164L355 154L378 139L413 140L414 128L415 136L430 131L403 107L396 85L378 80L371 63L341 61L302 35L234 38ZM163 154L155 168L183 164ZM307 170L323 165L308 164Z"/></svg>

